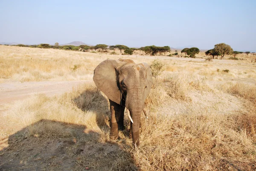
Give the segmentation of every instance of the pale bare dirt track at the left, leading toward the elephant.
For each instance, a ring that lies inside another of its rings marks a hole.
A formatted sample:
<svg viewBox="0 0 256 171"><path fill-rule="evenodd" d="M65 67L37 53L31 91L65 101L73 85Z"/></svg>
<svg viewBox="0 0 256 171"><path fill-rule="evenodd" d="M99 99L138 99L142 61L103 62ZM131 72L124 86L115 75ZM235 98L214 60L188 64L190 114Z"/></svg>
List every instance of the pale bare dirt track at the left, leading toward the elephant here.
<svg viewBox="0 0 256 171"><path fill-rule="evenodd" d="M10 125L5 122L6 116L3 113L10 106L8 104L29 98L35 93L44 93L47 96L59 95L85 82L89 81L34 81L21 83L20 81L9 80L0 83L0 149L7 146L8 136L19 130L18 125Z"/></svg>

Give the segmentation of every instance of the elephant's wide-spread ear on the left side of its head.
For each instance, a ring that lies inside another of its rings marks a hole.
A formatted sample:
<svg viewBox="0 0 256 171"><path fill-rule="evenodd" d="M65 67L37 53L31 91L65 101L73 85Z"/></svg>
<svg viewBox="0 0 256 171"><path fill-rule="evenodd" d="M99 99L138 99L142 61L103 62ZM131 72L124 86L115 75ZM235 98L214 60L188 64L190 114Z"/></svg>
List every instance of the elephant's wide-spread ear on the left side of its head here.
<svg viewBox="0 0 256 171"><path fill-rule="evenodd" d="M121 103L121 93L117 85L116 68L125 62L116 60L105 60L101 62L94 70L93 81L108 99Z"/></svg>

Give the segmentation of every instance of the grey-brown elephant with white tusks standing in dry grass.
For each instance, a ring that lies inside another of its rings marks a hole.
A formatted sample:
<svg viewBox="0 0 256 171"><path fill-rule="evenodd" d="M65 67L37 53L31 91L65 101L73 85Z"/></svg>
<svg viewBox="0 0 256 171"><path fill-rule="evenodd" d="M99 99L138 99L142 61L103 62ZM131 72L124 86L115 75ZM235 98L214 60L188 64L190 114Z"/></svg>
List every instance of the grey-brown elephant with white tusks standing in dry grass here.
<svg viewBox="0 0 256 171"><path fill-rule="evenodd" d="M94 70L93 81L108 97L111 110L110 138L117 139L124 130L124 111L130 119L130 136L134 147L140 144L140 115L152 86L152 73L147 63L135 64L131 59L105 60Z"/></svg>

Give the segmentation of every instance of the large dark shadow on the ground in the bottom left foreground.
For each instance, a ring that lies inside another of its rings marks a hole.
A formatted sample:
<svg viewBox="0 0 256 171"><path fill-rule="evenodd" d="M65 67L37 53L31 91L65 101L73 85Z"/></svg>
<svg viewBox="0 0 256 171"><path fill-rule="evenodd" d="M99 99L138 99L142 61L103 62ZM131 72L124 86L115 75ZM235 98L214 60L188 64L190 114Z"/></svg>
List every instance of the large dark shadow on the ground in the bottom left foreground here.
<svg viewBox="0 0 256 171"><path fill-rule="evenodd" d="M0 170L138 169L127 151L100 138L85 125L41 120L9 137L8 148L0 151Z"/></svg>

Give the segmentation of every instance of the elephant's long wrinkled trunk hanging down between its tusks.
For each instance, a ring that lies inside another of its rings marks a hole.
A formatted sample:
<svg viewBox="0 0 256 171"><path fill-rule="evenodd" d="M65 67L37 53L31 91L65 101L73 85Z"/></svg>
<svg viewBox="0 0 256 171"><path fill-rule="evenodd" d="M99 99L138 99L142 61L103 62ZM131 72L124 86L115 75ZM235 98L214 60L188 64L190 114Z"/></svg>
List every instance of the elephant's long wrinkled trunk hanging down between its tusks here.
<svg viewBox="0 0 256 171"><path fill-rule="evenodd" d="M140 115L143 111L142 90L137 90L133 94L127 93L125 106L129 110L131 128L130 133L132 135L132 141L135 146L140 144Z"/></svg>

